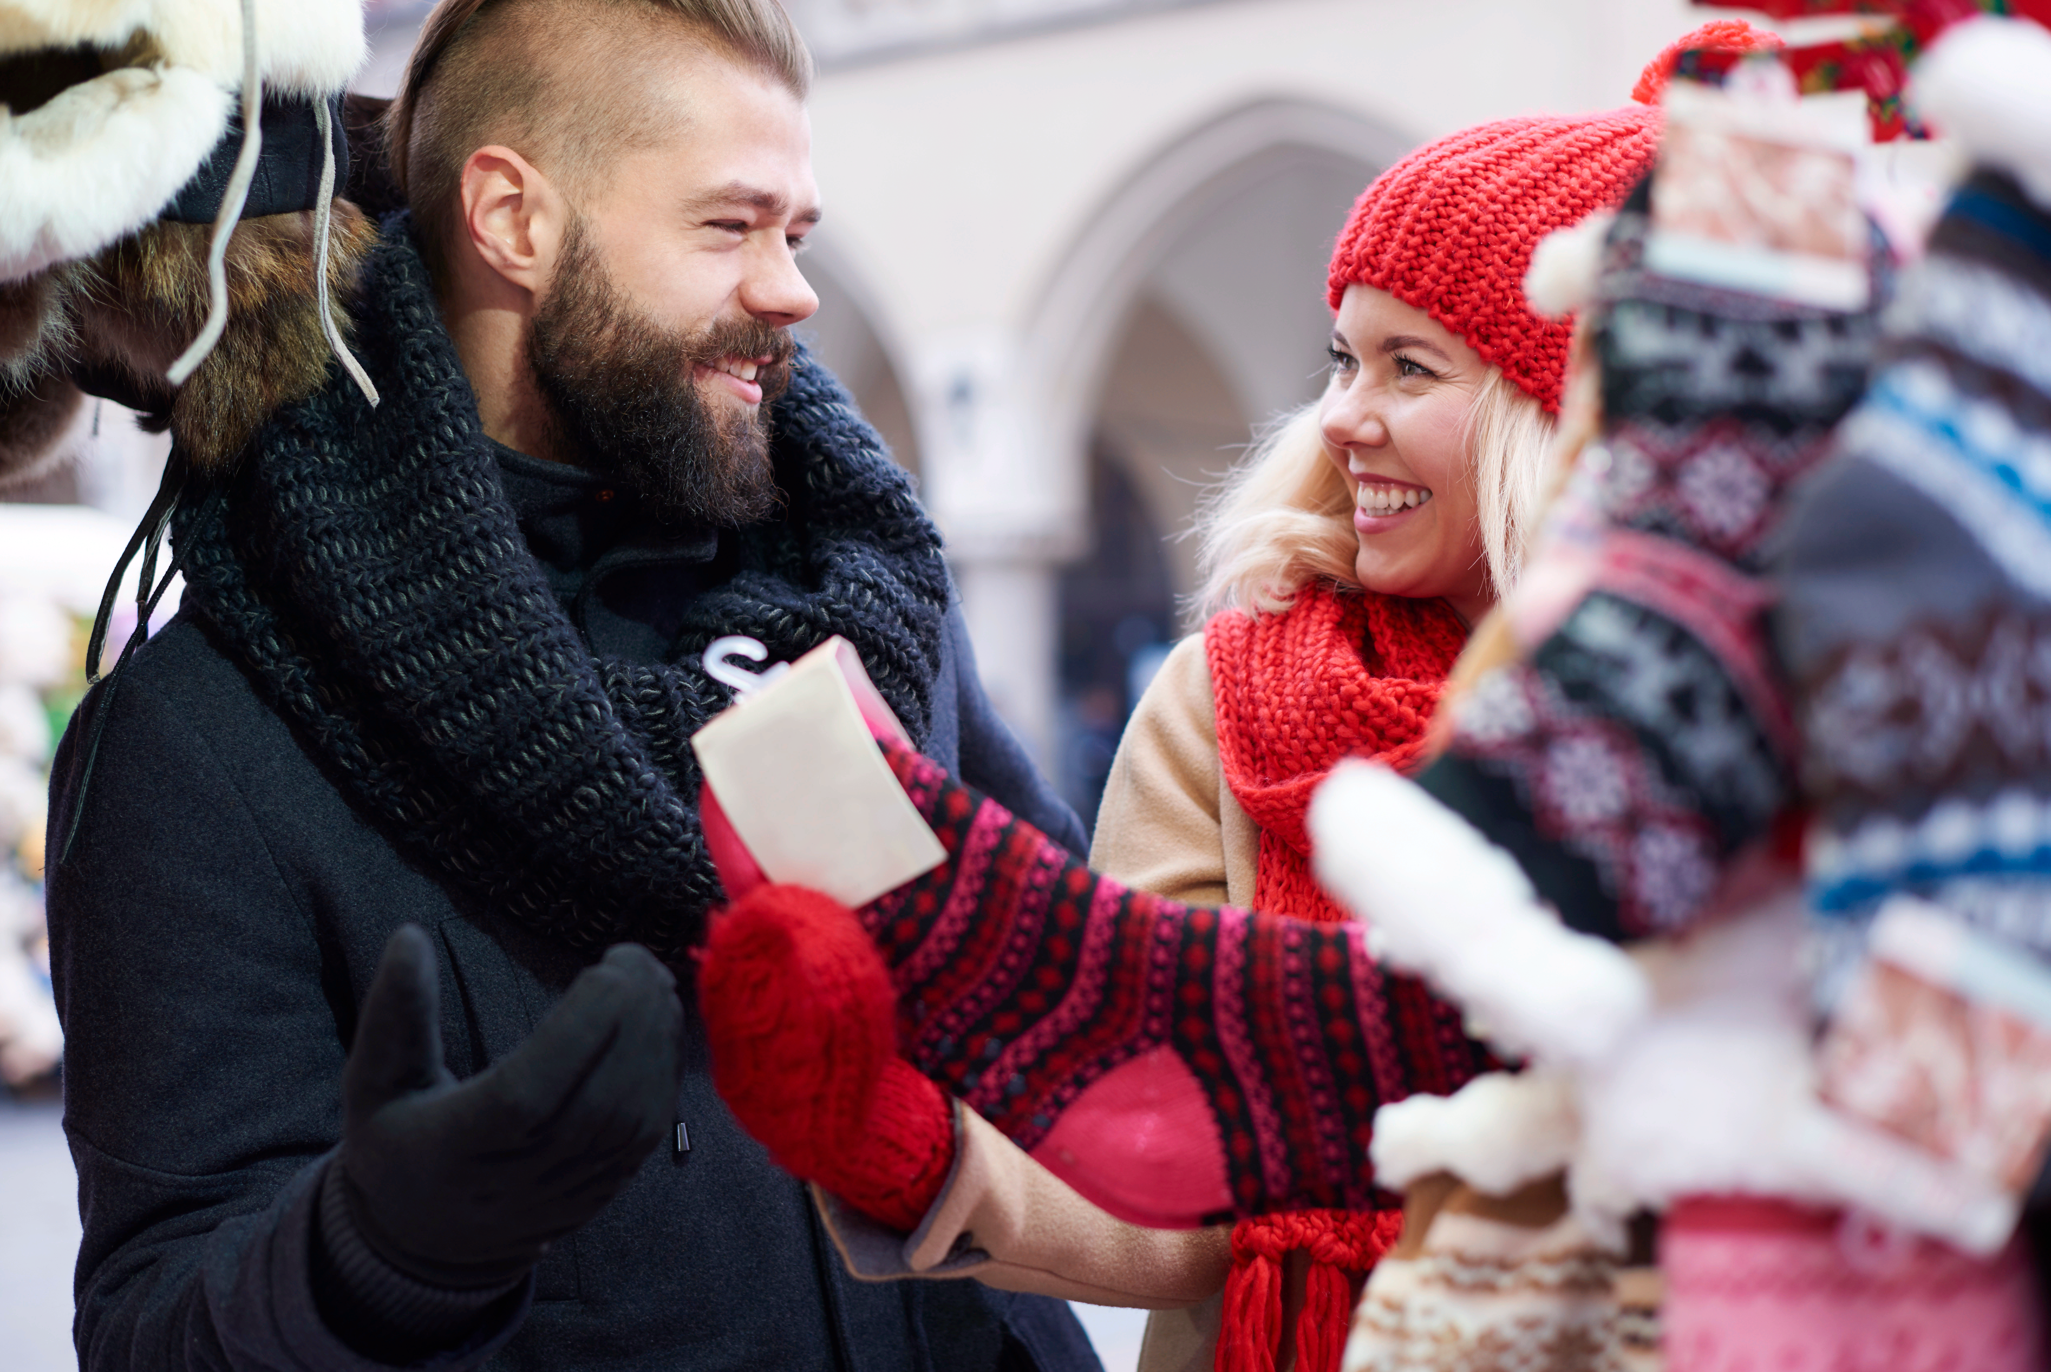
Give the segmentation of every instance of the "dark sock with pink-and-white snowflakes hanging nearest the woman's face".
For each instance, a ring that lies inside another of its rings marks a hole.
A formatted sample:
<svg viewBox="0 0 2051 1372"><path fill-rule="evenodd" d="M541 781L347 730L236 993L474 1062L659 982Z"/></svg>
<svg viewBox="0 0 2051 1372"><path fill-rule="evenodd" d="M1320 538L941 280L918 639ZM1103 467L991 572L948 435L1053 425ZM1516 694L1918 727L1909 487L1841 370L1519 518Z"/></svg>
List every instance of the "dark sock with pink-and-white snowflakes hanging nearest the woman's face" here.
<svg viewBox="0 0 2051 1372"><path fill-rule="evenodd" d="M1641 187L1618 213L1598 283L1602 441L1549 517L1542 593L1512 603L1536 648L1454 703L1419 775L1567 925L1612 939L1686 927L1795 800L1760 572L1877 336L1873 312L1643 271L1647 205Z"/></svg>

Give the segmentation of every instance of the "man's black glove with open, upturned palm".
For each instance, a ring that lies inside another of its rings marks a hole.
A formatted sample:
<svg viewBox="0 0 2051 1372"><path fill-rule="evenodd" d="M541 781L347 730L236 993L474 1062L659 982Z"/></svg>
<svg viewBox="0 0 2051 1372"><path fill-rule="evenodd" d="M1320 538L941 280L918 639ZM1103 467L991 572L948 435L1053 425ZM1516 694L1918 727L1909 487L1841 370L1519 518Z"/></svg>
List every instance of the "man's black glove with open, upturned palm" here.
<svg viewBox="0 0 2051 1372"><path fill-rule="evenodd" d="M398 1272L445 1290L505 1286L669 1136L677 982L648 950L611 947L525 1044L461 1083L441 1062L437 1001L433 945L406 925L363 997L330 1183Z"/></svg>

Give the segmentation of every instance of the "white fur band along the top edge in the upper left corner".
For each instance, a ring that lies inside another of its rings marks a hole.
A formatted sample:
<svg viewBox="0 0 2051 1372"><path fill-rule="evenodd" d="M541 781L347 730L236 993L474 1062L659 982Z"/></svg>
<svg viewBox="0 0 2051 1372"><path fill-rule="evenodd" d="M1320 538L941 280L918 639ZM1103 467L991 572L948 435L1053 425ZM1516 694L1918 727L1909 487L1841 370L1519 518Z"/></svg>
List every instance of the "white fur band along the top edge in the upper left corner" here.
<svg viewBox="0 0 2051 1372"><path fill-rule="evenodd" d="M0 53L135 43L222 90L242 88L238 0L8 0ZM256 0L256 64L265 90L334 94L363 66L361 0Z"/></svg>

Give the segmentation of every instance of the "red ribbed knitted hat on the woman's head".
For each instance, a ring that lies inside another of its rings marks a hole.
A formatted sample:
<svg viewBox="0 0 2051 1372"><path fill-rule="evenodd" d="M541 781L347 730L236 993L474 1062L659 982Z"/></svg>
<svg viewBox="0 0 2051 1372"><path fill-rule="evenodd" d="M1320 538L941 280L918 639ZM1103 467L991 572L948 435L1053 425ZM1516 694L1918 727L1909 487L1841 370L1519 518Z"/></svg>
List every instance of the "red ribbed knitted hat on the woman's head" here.
<svg viewBox="0 0 2051 1372"><path fill-rule="evenodd" d="M1741 21L1696 29L1659 53L1637 98L1657 98L1688 47L1778 47ZM1534 115L1462 129L1374 178L1331 254L1327 297L1360 281L1466 338L1549 412L1559 412L1571 320L1532 314L1524 273L1553 230L1622 201L1653 166L1659 111Z"/></svg>

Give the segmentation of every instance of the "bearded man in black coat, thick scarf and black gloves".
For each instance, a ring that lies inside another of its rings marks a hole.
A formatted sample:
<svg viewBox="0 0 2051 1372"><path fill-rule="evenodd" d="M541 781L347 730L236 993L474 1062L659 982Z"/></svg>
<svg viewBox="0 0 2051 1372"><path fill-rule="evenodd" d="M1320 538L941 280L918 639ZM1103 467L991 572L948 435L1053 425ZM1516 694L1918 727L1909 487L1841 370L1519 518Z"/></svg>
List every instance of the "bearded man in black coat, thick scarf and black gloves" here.
<svg viewBox="0 0 2051 1372"><path fill-rule="evenodd" d="M381 400L174 453L183 609L51 808L82 1368L1095 1366L1056 1302L849 1280L708 1077L712 638L845 634L1081 843L792 342L808 76L775 0L443 0L353 310Z"/></svg>

